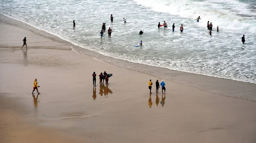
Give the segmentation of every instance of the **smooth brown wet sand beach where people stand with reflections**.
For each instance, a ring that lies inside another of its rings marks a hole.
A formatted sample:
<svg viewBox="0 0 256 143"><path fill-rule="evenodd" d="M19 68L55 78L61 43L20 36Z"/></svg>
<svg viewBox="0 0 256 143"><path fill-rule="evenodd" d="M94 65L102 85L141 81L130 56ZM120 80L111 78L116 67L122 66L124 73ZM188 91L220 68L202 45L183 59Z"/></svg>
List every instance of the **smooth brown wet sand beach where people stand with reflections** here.
<svg viewBox="0 0 256 143"><path fill-rule="evenodd" d="M166 94L156 94L156 77L14 26L0 29L0 143L256 141L256 102L167 80ZM28 49L20 49L25 36ZM99 86L97 78L94 89L91 74L104 71L113 74L109 86ZM31 94L35 78L38 96Z"/></svg>

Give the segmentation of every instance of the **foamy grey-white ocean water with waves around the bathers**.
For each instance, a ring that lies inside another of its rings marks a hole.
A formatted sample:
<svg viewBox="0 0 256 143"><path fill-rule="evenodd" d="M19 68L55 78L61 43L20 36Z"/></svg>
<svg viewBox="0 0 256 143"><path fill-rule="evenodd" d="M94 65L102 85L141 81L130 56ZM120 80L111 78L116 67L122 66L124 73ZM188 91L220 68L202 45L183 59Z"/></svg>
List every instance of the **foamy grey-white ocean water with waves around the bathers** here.
<svg viewBox="0 0 256 143"><path fill-rule="evenodd" d="M1 0L0 13L109 57L256 83L255 0ZM157 28L163 21L167 30ZM100 39L103 22L111 38ZM140 40L143 46L134 47Z"/></svg>

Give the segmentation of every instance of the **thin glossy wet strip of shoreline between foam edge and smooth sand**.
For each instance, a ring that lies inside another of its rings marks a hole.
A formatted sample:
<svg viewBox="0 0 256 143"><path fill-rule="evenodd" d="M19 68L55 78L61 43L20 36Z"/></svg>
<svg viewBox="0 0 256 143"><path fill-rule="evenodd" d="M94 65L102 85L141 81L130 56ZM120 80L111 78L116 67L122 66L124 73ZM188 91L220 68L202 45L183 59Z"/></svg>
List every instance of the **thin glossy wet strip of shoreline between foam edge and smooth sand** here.
<svg viewBox="0 0 256 143"><path fill-rule="evenodd" d="M219 78L219 77L210 77L207 75L193 74L189 72L180 72L180 71L175 71L171 69L166 69L166 68L161 68L156 66L148 66L141 63L133 63L127 60L108 57L98 52L73 45L72 43L66 40L63 40L60 37L47 33L46 31L36 29L35 27L27 25L26 23L23 23L21 21L17 21L10 17L6 17L3 14L0 14L0 22L6 23L12 26L18 26L22 29L26 28L35 34L39 34L43 37L49 38L50 40L57 41L58 43L63 43L64 45L71 47L68 49L72 49L72 51L76 52L77 54L92 57L98 61L107 63L109 65L148 74L153 77L159 77L161 79L169 80L181 85L194 87L201 91L205 91L213 94L219 94L227 97L234 97L234 98L239 98L244 100L256 101L256 84L254 83L247 83L247 82ZM4 47L4 46L6 45L0 44L0 47ZM47 46L38 46L35 48L47 48ZM53 48L50 48L50 49L53 49ZM62 48L56 47L55 49L62 49Z"/></svg>

